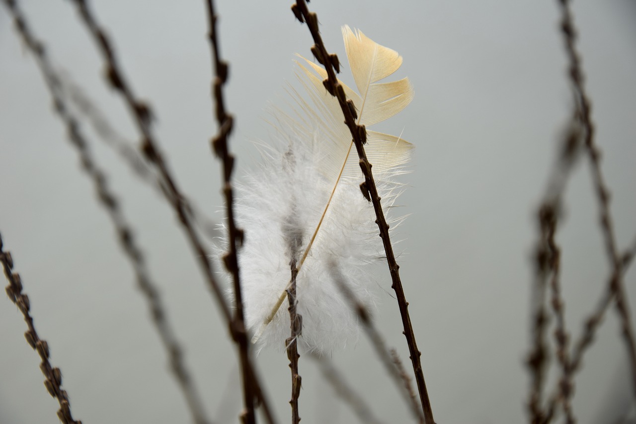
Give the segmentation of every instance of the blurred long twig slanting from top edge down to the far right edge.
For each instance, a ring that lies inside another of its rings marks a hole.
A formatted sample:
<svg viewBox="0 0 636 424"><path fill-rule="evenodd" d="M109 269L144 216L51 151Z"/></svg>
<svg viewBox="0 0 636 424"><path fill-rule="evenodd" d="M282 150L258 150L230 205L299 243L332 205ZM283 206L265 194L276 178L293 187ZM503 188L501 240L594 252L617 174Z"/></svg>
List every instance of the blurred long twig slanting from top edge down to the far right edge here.
<svg viewBox="0 0 636 424"><path fill-rule="evenodd" d="M591 122L591 106L590 99L584 88L583 69L581 67L581 59L576 51L576 28L572 20L572 13L569 7L569 0L558 0L561 8L562 20L561 29L565 50L569 59L569 76L572 82L572 90L581 114L581 124L584 129L584 146L590 160L591 174L595 192L597 194L600 226L605 240L605 250L609 263L612 267L612 277L609 280L607 290L614 298L616 311L625 340L630 368L632 371L632 388L633 395L636 399L636 339L632 328L628 300L623 287L623 258L621 257L616 243L616 232L614 231L614 223L610 211L610 194L605 183L605 178L600 167L600 152L595 145L594 125Z"/></svg>

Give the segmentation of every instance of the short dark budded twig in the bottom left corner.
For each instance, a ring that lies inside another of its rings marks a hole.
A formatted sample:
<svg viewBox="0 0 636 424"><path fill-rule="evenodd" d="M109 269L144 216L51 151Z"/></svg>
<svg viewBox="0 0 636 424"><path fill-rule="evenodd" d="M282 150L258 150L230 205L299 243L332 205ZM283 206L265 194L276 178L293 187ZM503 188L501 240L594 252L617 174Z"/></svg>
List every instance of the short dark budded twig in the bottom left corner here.
<svg viewBox="0 0 636 424"><path fill-rule="evenodd" d="M20 16L20 12L16 9L17 6L15 6L15 2L5 1L5 4L10 8L11 14L14 18L15 16ZM48 390L48 393L50 393L52 397L55 397L57 402L60 404L57 416L64 424L81 424L81 421L74 420L73 415L71 414L69 395L66 393L66 390L62 389L62 372L59 368L54 368L48 360L50 357L48 343L46 343L46 340L40 339L38 332L36 332L33 324L33 317L31 316L29 296L22 292L23 287L20 274L13 272L13 258L11 258L11 253L3 250L1 234L0 262L3 264L4 275L9 281L9 285L6 286L5 289L6 294L9 296L9 299L11 299L11 302L15 303L18 309L20 309L20 312L22 312L24 320L27 323L27 327L29 327L29 330L24 333L24 337L27 339L29 346L31 346L33 350L38 351L39 357L42 360L40 369L42 370L42 374L45 376L44 385L46 390Z"/></svg>

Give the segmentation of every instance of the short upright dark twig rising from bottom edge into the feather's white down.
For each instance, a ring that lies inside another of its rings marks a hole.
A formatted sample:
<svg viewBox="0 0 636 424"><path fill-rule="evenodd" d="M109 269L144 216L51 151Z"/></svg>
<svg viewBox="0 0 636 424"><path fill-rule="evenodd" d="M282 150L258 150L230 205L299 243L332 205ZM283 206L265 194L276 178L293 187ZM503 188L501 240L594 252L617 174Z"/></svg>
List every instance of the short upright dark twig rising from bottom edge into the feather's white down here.
<svg viewBox="0 0 636 424"><path fill-rule="evenodd" d="M300 397L301 377L298 374L298 337L303 330L302 316L296 313L296 278L298 277L298 267L296 260L291 262L291 284L287 289L287 300L289 301L289 326L291 337L285 341L287 349L287 358L289 359L289 368L291 369L291 422L292 424L300 423L300 413L298 411L298 398Z"/></svg>

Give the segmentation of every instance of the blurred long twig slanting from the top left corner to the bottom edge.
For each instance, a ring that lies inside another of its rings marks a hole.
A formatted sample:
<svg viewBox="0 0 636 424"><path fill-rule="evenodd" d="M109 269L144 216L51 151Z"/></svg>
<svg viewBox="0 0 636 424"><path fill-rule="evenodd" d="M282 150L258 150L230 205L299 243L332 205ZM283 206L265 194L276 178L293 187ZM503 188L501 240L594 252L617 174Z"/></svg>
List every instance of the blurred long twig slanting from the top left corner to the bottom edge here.
<svg viewBox="0 0 636 424"><path fill-rule="evenodd" d="M88 148L86 138L80 131L76 118L73 117L66 105L64 89L60 83L59 76L55 73L50 60L48 59L48 55L46 55L45 46L40 40L36 39L30 31L24 15L22 15L20 10L18 10L17 3L15 1L12 3L11 13L16 22L22 41L24 41L27 48L29 48L36 58L36 62L38 63L38 67L46 82L46 86L53 98L55 111L62 122L64 122L64 125L66 125L69 140L79 155L82 169L88 178L93 181L93 186L97 193L97 199L99 199L100 204L102 204L104 209L106 209L106 212L113 223L116 234L118 235L121 248L132 265L135 272L135 278L137 279L137 285L144 294L146 302L148 302L153 324L155 325L163 346L170 358L170 369L177 379L177 383L179 383L179 386L181 387L181 391L183 392L186 404L188 404L193 421L197 424L209 423L210 421L205 416L201 397L193 385L190 372L188 372L188 369L183 362L183 349L177 341L177 337L172 330L172 327L170 327L170 324L167 321L167 314L165 313L160 293L156 288L155 283L150 278L148 269L146 269L142 251L139 246L137 246L132 229L123 216L119 201L107 185L106 174L97 165L95 159L93 159Z"/></svg>

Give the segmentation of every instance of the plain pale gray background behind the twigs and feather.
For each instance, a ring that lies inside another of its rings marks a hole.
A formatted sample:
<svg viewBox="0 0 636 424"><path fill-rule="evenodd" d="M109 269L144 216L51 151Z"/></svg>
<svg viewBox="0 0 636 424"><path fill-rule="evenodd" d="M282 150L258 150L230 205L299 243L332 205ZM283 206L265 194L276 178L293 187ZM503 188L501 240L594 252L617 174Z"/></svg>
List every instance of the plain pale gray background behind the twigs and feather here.
<svg viewBox="0 0 636 424"><path fill-rule="evenodd" d="M219 166L207 139L211 115L209 45L202 1L93 1L135 92L158 118L156 134L185 191L221 220ZM70 2L24 1L32 28L53 59L97 99L118 129L135 131L102 82L102 65ZM230 62L228 108L237 175L253 164L251 140L266 139L264 108L293 80L293 53L310 55L310 34L291 2L218 2L223 57ZM404 57L399 76L415 86L412 104L379 125L417 148L410 187L399 203L410 217L396 231L411 320L439 423L514 423L524 417L528 376L533 216L569 117L570 92L554 1L349 1L310 4L327 48L344 60L340 27L359 27ZM636 234L636 7L627 0L580 1L586 87L612 190L619 246ZM347 80L345 66L345 81ZM13 253L41 337L64 373L74 416L85 423L176 423L189 419L165 354L134 288L92 185L79 171L32 57L0 12L0 230ZM109 182L148 253L186 359L218 422L236 422L237 367L220 315L169 208L96 143ZM566 195L563 292L579 334L609 273L588 164ZM405 363L388 272L378 289L377 324ZM633 269L625 284L636 301ZM25 324L0 299L0 422L55 423L57 402L43 387ZM332 359L387 422L408 422L362 338ZM266 351L258 367L280 421L289 418L286 355ZM408 364L407 364L408 365ZM303 423L350 422L315 365L301 358ZM610 422L628 407L628 369L614 311L576 379L581 423ZM553 381L553 379L551 379ZM225 393L225 395L224 395ZM224 397L225 396L225 397ZM631 401L633 402L633 400Z"/></svg>

